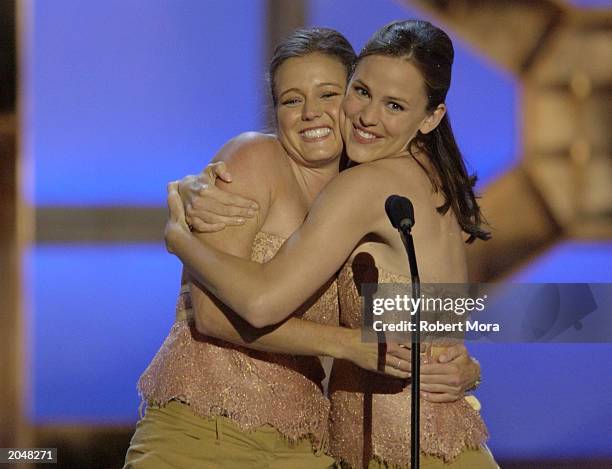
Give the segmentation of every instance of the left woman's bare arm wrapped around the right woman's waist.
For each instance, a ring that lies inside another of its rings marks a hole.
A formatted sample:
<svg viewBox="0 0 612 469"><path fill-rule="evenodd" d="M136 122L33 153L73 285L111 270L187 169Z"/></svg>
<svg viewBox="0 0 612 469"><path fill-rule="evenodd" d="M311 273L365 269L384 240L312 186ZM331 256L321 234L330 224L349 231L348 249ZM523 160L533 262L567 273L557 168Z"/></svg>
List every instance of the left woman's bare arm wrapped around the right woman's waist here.
<svg viewBox="0 0 612 469"><path fill-rule="evenodd" d="M273 199L271 183L266 183L265 175L262 174L270 174L272 171L266 170L262 160L265 155L258 155L259 150L261 148L257 146L229 145L219 152L216 159L225 161L234 176L231 185L220 182L220 189L248 193L262 207L261 216L248 220L240 228L228 226L222 233L195 235L200 241L206 241L210 246L241 259L250 258L253 239L260 230ZM257 164L254 165L254 161ZM195 325L200 333L256 350L292 355L331 356L351 360L371 371L384 371L401 378L408 376L409 353L405 349L389 347L387 365L379 370L377 346L362 344L358 330L317 324L298 318L289 318L280 325L257 329L206 292L205 287L191 279L187 272L184 272L183 278L190 283Z"/></svg>

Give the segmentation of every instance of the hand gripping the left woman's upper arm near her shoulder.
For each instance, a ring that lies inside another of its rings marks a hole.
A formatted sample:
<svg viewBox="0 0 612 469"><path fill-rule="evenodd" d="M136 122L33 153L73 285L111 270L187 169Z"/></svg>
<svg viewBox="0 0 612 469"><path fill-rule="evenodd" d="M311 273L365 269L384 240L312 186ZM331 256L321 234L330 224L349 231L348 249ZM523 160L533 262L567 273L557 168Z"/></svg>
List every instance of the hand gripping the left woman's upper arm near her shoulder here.
<svg viewBox="0 0 612 469"><path fill-rule="evenodd" d="M225 163L210 163L197 176L185 176L178 181L178 191L185 207L187 223L192 231L213 233L226 226L238 226L256 215L253 200L224 191L215 185L216 179L232 181Z"/></svg>

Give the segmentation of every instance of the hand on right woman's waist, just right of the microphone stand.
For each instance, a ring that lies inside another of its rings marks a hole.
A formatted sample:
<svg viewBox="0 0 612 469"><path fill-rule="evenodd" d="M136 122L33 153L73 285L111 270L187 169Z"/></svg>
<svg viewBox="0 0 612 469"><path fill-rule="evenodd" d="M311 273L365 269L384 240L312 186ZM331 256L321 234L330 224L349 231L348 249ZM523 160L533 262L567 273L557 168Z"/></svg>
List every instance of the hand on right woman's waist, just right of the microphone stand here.
<svg viewBox="0 0 612 469"><path fill-rule="evenodd" d="M453 402L465 396L480 376L480 366L463 344L444 350L434 363L421 365L421 396L430 402Z"/></svg>

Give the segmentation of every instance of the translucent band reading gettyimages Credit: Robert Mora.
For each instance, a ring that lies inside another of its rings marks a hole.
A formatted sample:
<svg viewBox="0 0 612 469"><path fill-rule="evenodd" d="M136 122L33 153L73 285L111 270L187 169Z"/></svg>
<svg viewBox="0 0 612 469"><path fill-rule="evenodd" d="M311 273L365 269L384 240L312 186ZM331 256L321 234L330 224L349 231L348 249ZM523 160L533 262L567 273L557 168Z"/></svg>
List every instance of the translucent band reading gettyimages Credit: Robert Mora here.
<svg viewBox="0 0 612 469"><path fill-rule="evenodd" d="M612 342L612 284L364 284L363 339Z"/></svg>

